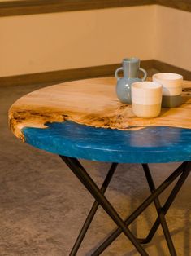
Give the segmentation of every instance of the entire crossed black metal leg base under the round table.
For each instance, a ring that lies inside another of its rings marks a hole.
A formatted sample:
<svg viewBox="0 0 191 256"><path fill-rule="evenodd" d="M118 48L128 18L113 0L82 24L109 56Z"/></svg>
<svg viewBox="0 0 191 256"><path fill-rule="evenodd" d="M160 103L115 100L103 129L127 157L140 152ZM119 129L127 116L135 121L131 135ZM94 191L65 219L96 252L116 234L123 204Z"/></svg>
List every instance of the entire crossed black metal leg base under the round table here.
<svg viewBox="0 0 191 256"><path fill-rule="evenodd" d="M85 185L85 188L89 190L89 192L93 195L95 198L95 202L92 206L92 209L89 212L88 217L85 220L85 223L80 231L80 234L76 240L75 245L72 248L70 256L76 255L81 242L83 241L85 237L85 233L87 232L90 223L93 220L93 216L96 213L98 209L98 205L101 205L102 208L106 211L106 213L113 219L113 221L117 224L118 228L109 236L106 238L106 241L102 243L96 249L92 256L97 256L102 254L103 250L107 248L107 246L111 245L112 241L114 241L121 232L124 232L124 235L128 237L128 239L132 242L132 244L136 247L137 251L145 256L149 255L146 253L145 249L142 247L141 244L146 244L150 242L155 234L155 232L158 229L158 226L161 224L164 232L164 236L167 241L168 249L171 256L176 256L176 250L174 248L174 245L171 240L171 235L167 227L165 214L167 214L167 210L169 210L172 202L175 200L177 193L180 191L180 188L182 187L185 179L188 177L189 172L191 170L191 162L184 162L180 165L157 189L154 186L154 181L152 179L152 176L150 174L150 169L147 164L142 164L143 170L145 172L145 177L147 179L147 182L150 187L150 196L135 210L128 218L125 219L125 221L119 217L119 214L115 211L111 203L106 199L104 196L104 192L106 191L106 188L108 187L112 175L115 172L115 169L117 167L116 163L113 163L111 165L110 170L108 171L108 174L106 175L106 179L104 180L104 183L102 184L102 188L98 188L96 183L93 182L93 179L89 176L89 174L85 171L84 167L80 165L80 162L76 158L72 157L64 157L60 156L63 161L67 164L67 166L72 170L74 174L76 174L77 178L80 179L80 182ZM160 205L160 201L158 199L158 196L178 177L178 181L176 182L176 185L171 190L170 196L168 196L167 201L163 205L163 207ZM128 229L128 225L132 223L152 202L154 202L155 208L158 213L158 218L156 219L153 227L150 229L150 232L148 236L144 239L139 239L135 237L132 232Z"/></svg>

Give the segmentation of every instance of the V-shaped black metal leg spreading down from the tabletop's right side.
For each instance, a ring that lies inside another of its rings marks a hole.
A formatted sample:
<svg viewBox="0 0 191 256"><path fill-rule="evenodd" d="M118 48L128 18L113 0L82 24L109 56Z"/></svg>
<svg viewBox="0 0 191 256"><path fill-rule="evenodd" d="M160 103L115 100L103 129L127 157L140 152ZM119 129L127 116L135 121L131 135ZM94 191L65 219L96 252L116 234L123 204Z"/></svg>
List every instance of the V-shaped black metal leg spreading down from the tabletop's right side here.
<svg viewBox="0 0 191 256"><path fill-rule="evenodd" d="M164 214L167 213L167 210L170 208L170 205L172 201L174 201L177 193L180 191L181 186L183 185L185 179L188 177L189 172L191 170L191 162L184 162L181 164L155 191L152 193L138 208L135 210L128 218L126 218L125 223L126 225L130 225L133 220L135 220L144 210L147 208L154 199L159 196L180 174L180 178L178 179L175 187L172 189L170 196L167 199L166 204L163 207ZM154 233L156 232L158 226L160 224L160 219L157 218L157 220L154 223L154 226L152 227L149 237L153 237ZM121 229L118 227L114 232L111 233L110 236L106 238L106 240L94 251L92 256L98 256L102 254L102 252L111 245L112 241L114 241L119 235L121 234ZM138 239L140 242L144 241L141 239Z"/></svg>

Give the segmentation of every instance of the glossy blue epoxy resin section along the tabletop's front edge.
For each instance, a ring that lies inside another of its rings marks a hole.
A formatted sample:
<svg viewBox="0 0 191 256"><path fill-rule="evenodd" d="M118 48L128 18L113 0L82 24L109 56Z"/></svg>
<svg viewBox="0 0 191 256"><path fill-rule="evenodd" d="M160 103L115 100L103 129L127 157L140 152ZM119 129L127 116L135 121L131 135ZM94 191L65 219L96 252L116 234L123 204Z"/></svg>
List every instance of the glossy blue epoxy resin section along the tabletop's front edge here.
<svg viewBox="0 0 191 256"><path fill-rule="evenodd" d="M27 143L67 157L119 163L162 163L191 160L191 130L148 126L141 130L113 130L72 121L25 127Z"/></svg>

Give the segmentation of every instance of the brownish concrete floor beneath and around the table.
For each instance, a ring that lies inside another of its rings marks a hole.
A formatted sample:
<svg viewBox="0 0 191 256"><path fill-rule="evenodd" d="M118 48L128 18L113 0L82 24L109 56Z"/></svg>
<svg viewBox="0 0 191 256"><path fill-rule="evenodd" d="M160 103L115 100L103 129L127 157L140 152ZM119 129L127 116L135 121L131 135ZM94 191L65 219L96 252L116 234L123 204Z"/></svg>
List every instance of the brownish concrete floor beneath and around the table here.
<svg viewBox="0 0 191 256"><path fill-rule="evenodd" d="M0 86L0 256L67 256L86 214L92 196L58 156L32 148L11 135L7 127L7 110L21 95L36 86ZM81 161L98 184L102 183L108 163ZM150 165L156 184L171 174L178 163ZM191 253L191 177L167 214L178 256ZM168 192L161 196L164 201ZM141 166L119 165L106 196L125 218L149 194ZM150 206L130 229L145 236L156 216ZM85 241L77 255L88 256L115 224L99 208ZM154 240L145 245L151 256L169 255L163 232L159 228ZM102 255L135 256L133 245L124 235Z"/></svg>

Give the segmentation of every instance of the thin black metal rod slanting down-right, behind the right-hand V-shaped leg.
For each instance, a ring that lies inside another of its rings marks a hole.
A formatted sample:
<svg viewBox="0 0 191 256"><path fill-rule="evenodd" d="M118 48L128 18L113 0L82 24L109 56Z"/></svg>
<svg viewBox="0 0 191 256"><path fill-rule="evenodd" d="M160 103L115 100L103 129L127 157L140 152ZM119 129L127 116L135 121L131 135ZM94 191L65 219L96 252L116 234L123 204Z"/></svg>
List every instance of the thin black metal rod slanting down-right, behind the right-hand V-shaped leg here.
<svg viewBox="0 0 191 256"><path fill-rule="evenodd" d="M142 167L143 167L143 170L145 172L145 177L146 177L147 182L148 182L149 187L150 187L150 192L154 193L156 188L155 188L155 185L154 185L154 180L153 180L153 178L150 174L150 168L147 164L142 164ZM173 242L172 242L172 239L171 239L171 234L170 234L169 229L167 227L167 222L166 222L165 216L163 214L163 208L160 204L158 196L156 196L156 198L154 199L154 205L155 205L155 208L156 208L157 213L158 213L158 219L160 220L161 226L163 228L163 233L164 233L164 236L166 238L167 246L168 246L168 249L170 251L170 254L171 254L171 256L176 256L176 250L175 250L175 247L173 245Z"/></svg>

